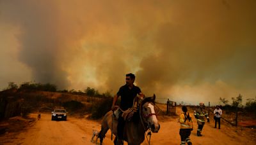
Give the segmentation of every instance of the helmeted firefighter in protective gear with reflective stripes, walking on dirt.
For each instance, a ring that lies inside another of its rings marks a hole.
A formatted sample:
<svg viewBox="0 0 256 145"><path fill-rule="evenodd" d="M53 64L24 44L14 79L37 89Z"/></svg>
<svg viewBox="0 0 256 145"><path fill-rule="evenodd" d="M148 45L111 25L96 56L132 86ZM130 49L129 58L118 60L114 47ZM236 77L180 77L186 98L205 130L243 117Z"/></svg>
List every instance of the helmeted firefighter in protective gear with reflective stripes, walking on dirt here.
<svg viewBox="0 0 256 145"><path fill-rule="evenodd" d="M210 122L208 113L204 109L204 103L200 102L200 107L195 110L195 118L198 124L197 136L200 137L202 136L201 132L205 124L205 118L207 118L207 122Z"/></svg>

